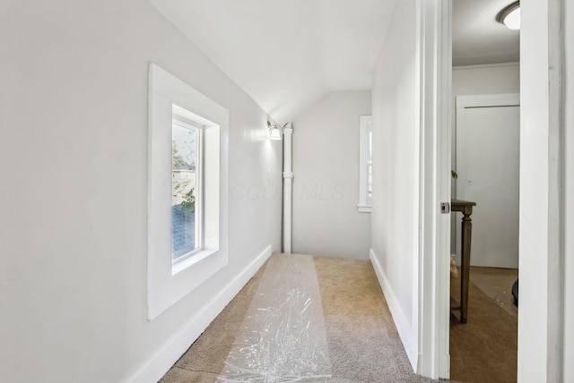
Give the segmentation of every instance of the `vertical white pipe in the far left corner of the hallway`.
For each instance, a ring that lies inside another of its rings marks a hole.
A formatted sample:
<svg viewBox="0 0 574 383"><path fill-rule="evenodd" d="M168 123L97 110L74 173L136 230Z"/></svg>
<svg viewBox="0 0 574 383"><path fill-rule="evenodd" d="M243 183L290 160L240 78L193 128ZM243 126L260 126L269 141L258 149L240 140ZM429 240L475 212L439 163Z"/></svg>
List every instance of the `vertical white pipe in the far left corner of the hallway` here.
<svg viewBox="0 0 574 383"><path fill-rule="evenodd" d="M291 168L291 142L293 128L287 123L283 128L283 252L291 254L291 210L293 172Z"/></svg>

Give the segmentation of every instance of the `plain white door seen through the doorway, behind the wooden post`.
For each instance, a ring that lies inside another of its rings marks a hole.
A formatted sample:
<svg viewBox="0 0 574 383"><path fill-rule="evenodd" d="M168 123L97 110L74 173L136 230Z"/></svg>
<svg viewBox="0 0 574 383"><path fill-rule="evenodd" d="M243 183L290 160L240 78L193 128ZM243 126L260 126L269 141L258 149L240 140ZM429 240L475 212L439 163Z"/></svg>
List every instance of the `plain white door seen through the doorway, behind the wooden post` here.
<svg viewBox="0 0 574 383"><path fill-rule="evenodd" d="M517 94L457 97L457 199L476 202L472 266L518 268L519 134Z"/></svg>

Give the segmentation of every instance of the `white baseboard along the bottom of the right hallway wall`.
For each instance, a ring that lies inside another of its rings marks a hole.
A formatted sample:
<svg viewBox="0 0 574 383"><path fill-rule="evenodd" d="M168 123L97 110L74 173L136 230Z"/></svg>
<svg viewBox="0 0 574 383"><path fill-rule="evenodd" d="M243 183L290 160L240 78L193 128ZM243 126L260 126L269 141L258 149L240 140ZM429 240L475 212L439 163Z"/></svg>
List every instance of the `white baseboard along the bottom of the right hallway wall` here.
<svg viewBox="0 0 574 383"><path fill-rule="evenodd" d="M415 333L413 328L409 325L409 321L406 319L406 316L404 315L404 311L399 304L395 291L389 284L385 270L381 267L375 251L370 249L369 253L370 261L373 265L373 268L375 269L375 274L377 274L378 277L378 284L383 290L383 294L385 294L388 309L391 311L391 315L395 321L396 330L398 331L398 335L401 337L401 341L403 342L404 351L406 352L406 356L409 358L409 362L411 362L413 371L416 371L418 363L418 350L417 343L414 342L413 337Z"/></svg>

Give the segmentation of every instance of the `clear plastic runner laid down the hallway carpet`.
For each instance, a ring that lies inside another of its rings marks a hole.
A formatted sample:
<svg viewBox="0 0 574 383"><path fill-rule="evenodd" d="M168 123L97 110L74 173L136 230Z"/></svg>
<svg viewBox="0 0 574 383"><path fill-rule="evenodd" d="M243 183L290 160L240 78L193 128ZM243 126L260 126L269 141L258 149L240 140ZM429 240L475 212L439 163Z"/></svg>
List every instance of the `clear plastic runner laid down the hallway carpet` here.
<svg viewBox="0 0 574 383"><path fill-rule="evenodd" d="M218 382L326 382L331 377L323 304L311 256L277 254Z"/></svg>

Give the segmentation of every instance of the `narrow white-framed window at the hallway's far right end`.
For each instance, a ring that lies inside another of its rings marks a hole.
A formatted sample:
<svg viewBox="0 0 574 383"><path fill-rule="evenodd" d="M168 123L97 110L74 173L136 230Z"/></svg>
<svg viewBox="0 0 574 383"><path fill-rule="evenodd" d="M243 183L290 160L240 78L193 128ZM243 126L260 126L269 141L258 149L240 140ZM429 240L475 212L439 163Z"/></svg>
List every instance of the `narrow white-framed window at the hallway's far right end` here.
<svg viewBox="0 0 574 383"><path fill-rule="evenodd" d="M359 119L359 203L361 213L370 213L372 198L372 153L373 132L370 115L361 115Z"/></svg>

